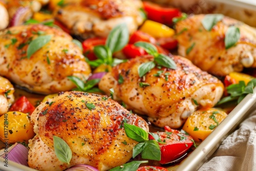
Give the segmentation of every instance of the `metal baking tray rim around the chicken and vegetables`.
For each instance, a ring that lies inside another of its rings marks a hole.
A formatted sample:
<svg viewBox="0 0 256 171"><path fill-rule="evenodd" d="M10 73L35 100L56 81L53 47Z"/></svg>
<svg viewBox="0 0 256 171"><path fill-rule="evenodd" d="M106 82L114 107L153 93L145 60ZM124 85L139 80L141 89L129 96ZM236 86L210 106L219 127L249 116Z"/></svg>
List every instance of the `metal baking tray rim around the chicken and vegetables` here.
<svg viewBox="0 0 256 171"><path fill-rule="evenodd" d="M175 6L188 14L222 13L236 18L250 26L256 27L256 2L252 0L151 0L152 2ZM256 88L253 94L248 94L218 127L179 165L168 170L197 170L216 151L221 142L232 133L237 126L253 111L256 110ZM5 167L4 159L0 158L0 170L33 171L30 167L8 161Z"/></svg>

